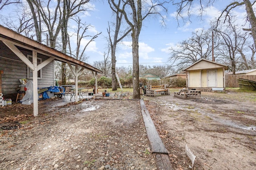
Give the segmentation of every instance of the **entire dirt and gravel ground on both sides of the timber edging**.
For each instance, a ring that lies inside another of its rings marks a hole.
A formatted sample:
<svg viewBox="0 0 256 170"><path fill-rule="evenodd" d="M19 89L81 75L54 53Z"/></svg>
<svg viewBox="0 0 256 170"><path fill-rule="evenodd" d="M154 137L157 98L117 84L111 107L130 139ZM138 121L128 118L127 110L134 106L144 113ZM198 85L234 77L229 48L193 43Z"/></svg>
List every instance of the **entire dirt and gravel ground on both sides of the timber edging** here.
<svg viewBox="0 0 256 170"><path fill-rule="evenodd" d="M256 169L256 93L144 98L175 170ZM156 170L136 100L89 99L0 108L0 170Z"/></svg>

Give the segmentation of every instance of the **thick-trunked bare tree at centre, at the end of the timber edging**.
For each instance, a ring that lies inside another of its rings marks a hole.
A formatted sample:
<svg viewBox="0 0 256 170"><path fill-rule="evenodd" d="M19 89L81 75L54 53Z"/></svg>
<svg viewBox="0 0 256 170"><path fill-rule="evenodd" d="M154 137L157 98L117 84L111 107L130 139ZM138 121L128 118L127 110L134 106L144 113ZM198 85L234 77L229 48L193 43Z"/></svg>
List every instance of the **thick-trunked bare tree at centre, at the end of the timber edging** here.
<svg viewBox="0 0 256 170"><path fill-rule="evenodd" d="M118 5L111 0L114 7L121 13L123 13L124 18L128 25L132 29L132 86L133 86L133 96L134 99L140 99L140 86L139 86L139 35L142 28L142 21L147 18L150 14L160 15L162 19L164 17L159 12L161 8L164 12L167 12L167 9L164 7L164 4L168 3L167 1L159 2L151 1L149 3L145 2L142 4L141 0L126 0L125 3L126 9L122 10L118 8ZM142 10L143 8L143 10ZM144 13L144 14L143 14Z"/></svg>

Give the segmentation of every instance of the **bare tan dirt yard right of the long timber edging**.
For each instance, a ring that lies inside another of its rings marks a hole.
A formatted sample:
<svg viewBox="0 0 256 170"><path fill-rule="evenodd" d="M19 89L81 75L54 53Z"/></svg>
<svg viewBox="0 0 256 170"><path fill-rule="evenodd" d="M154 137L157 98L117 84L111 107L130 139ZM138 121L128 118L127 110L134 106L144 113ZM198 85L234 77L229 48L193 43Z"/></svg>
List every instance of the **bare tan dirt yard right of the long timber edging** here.
<svg viewBox="0 0 256 170"><path fill-rule="evenodd" d="M195 100L144 97L174 169L256 169L256 92L202 92Z"/></svg>

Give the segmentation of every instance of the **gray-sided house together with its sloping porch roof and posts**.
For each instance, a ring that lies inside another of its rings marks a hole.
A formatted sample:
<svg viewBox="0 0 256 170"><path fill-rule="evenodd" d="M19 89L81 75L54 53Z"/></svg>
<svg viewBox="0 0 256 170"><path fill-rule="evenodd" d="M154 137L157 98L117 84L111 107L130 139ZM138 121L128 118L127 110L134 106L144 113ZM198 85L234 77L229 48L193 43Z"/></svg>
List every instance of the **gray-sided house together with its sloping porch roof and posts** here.
<svg viewBox="0 0 256 170"><path fill-rule="evenodd" d="M38 88L54 86L54 61L68 64L75 76L76 92L84 69L92 71L97 87L101 70L0 25L0 97L14 100L19 79L32 80L34 115L38 115Z"/></svg>

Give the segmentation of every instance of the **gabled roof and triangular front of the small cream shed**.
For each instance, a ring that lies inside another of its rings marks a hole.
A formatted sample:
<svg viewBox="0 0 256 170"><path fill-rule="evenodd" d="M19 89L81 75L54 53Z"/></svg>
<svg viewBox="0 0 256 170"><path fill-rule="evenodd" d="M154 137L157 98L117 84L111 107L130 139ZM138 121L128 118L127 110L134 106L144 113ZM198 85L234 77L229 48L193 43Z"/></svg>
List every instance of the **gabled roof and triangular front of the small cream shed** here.
<svg viewBox="0 0 256 170"><path fill-rule="evenodd" d="M184 71L189 70L207 70L207 69L214 69L214 68L225 68L228 70L228 65L217 63L215 61L210 61L208 59L200 59L195 63L191 64L190 66L184 68Z"/></svg>

